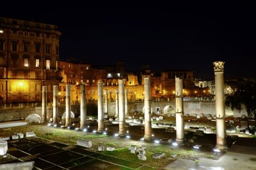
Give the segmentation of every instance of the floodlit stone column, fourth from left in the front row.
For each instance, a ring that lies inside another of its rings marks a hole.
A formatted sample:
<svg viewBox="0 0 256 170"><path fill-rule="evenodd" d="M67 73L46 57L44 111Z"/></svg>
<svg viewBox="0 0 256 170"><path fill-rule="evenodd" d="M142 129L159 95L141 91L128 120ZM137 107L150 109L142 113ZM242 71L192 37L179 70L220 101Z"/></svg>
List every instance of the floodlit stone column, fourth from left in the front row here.
<svg viewBox="0 0 256 170"><path fill-rule="evenodd" d="M86 96L85 96L85 83L81 84L80 91L80 129L83 129L86 125Z"/></svg>

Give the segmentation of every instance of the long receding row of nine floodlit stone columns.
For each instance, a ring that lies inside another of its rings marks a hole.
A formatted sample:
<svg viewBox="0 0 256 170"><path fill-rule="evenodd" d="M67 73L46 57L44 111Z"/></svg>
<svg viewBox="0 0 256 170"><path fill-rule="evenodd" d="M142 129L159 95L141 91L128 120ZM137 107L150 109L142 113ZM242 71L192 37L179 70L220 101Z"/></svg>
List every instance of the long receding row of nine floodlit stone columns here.
<svg viewBox="0 0 256 170"><path fill-rule="evenodd" d="M224 80L223 69L224 62L217 61L214 64L215 74L215 97L216 97L216 148L226 149L226 127L225 127L225 96L224 96ZM175 101L176 101L176 141L180 144L184 143L184 103L183 103L183 81L179 77L175 77ZM151 127L151 94L150 79L144 78L145 92L145 134L144 139L152 138ZM108 90L105 93L105 112L108 113ZM42 122L46 122L47 111L47 87L42 87ZM53 87L53 124L58 124L58 85ZM128 113L127 90L124 89L124 80L118 80L118 90L116 90L116 117L119 118L118 134L126 133L125 115ZM86 98L85 84L81 85L81 126L82 129L86 125ZM71 125L71 104L70 104L70 85L66 85L66 123L65 126ZM104 131L104 105L103 105L103 82L98 82L98 132Z"/></svg>

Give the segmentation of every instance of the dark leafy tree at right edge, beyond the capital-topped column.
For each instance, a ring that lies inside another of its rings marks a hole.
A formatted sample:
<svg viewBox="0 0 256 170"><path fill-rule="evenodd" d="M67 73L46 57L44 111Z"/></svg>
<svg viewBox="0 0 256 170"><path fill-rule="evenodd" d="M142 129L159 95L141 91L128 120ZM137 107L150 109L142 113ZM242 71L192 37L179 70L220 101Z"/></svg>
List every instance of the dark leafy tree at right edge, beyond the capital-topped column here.
<svg viewBox="0 0 256 170"><path fill-rule="evenodd" d="M237 81L233 96L226 97L226 105L241 111L244 105L249 117L254 117L256 125L256 83L252 81Z"/></svg>

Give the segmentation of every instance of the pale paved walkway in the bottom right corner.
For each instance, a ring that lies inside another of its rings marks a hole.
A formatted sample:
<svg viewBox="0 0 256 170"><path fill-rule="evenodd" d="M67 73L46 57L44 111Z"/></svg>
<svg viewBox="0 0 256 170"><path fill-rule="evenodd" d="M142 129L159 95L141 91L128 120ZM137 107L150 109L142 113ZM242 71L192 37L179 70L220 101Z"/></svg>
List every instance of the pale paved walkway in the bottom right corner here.
<svg viewBox="0 0 256 170"><path fill-rule="evenodd" d="M239 138L225 155L218 160L200 159L196 165L193 160L179 159L164 169L188 170L255 170L256 138Z"/></svg>

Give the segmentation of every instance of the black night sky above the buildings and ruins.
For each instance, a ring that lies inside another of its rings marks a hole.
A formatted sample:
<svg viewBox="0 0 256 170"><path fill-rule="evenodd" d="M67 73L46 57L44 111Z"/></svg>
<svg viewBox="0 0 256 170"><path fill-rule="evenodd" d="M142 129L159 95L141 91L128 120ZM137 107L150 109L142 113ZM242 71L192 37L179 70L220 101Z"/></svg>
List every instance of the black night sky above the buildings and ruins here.
<svg viewBox="0 0 256 170"><path fill-rule="evenodd" d="M255 78L253 4L52 2L1 3L7 7L0 16L58 25L64 60L124 61L127 71L147 63L155 71L195 71L202 79L213 79L212 62L223 60L226 79Z"/></svg>

